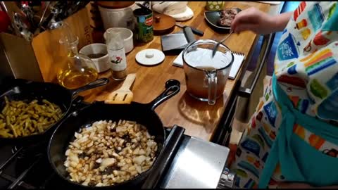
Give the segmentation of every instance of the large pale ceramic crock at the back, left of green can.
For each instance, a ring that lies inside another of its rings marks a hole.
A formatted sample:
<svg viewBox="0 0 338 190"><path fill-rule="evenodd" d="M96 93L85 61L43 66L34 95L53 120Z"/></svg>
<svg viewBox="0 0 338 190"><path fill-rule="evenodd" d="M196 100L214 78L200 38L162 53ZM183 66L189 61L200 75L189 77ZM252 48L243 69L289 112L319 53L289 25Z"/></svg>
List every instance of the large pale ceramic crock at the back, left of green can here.
<svg viewBox="0 0 338 190"><path fill-rule="evenodd" d="M104 8L99 6L104 29L110 27L127 27L130 30L134 29L134 13L132 11L136 4L125 8Z"/></svg>

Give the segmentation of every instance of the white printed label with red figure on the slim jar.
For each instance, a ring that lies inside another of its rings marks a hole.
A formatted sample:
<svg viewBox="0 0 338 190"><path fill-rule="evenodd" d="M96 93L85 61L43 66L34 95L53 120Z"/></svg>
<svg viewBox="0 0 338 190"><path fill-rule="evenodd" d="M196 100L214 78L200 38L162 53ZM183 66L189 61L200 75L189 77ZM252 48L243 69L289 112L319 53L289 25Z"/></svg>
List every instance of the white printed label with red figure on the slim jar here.
<svg viewBox="0 0 338 190"><path fill-rule="evenodd" d="M108 49L109 65L111 70L121 71L127 68L127 62L125 58L125 49L111 50Z"/></svg>

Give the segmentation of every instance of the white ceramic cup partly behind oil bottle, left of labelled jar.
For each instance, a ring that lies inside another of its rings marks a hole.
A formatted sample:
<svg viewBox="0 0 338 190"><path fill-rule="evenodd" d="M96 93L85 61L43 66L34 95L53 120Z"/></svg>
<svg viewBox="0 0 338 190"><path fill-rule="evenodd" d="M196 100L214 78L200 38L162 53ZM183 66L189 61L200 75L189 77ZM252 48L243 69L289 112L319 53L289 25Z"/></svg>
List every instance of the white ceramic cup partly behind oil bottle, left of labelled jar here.
<svg viewBox="0 0 338 190"><path fill-rule="evenodd" d="M90 54L103 53L104 56L100 58L91 58L91 59L95 64L97 72L104 72L110 69L110 65L108 63L109 56L108 56L106 44L89 44L87 46L82 47L79 53L85 56L88 56Z"/></svg>

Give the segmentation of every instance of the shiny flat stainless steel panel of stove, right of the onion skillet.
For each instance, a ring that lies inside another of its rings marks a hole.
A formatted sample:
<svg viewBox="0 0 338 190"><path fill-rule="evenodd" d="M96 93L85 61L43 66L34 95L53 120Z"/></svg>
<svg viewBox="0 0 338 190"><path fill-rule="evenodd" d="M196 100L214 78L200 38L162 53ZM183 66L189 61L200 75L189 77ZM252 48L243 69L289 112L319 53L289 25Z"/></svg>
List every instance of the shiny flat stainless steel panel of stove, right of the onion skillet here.
<svg viewBox="0 0 338 190"><path fill-rule="evenodd" d="M161 183L165 189L216 189L229 148L185 137Z"/></svg>

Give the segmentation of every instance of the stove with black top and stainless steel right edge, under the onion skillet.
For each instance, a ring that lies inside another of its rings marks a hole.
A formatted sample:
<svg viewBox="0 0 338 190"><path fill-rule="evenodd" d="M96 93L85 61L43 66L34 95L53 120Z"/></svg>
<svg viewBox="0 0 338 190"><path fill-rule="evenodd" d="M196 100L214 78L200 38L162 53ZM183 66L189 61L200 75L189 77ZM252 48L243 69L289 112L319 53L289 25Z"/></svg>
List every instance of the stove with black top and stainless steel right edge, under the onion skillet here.
<svg viewBox="0 0 338 190"><path fill-rule="evenodd" d="M138 188L230 188L234 175L225 167L229 148L184 135L184 128L167 128L166 152L154 163L154 172ZM0 147L0 188L67 188L46 158L47 141ZM161 158L160 158L161 157ZM156 166L156 167L155 167Z"/></svg>

